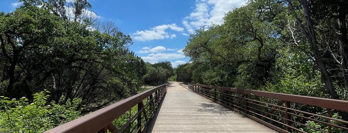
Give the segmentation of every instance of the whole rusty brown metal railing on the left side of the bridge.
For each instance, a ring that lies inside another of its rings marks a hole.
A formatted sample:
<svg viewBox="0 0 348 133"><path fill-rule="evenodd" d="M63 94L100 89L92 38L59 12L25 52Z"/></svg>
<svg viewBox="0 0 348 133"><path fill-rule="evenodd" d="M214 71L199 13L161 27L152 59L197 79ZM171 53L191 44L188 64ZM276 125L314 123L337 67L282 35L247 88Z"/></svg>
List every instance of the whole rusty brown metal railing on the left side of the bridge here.
<svg viewBox="0 0 348 133"><path fill-rule="evenodd" d="M167 84L154 87L91 114L58 126L45 133L139 133L146 130L149 121L167 92ZM137 107L135 115L121 128L113 125L118 117Z"/></svg>

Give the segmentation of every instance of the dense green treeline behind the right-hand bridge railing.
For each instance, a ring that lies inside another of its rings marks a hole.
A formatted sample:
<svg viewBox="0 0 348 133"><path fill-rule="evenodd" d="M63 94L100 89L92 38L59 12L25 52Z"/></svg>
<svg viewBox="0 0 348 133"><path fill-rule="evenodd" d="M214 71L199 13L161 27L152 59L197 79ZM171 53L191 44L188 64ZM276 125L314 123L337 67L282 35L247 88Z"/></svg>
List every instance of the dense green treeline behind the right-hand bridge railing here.
<svg viewBox="0 0 348 133"><path fill-rule="evenodd" d="M342 0L249 0L190 35L177 79L346 100L347 14Z"/></svg>

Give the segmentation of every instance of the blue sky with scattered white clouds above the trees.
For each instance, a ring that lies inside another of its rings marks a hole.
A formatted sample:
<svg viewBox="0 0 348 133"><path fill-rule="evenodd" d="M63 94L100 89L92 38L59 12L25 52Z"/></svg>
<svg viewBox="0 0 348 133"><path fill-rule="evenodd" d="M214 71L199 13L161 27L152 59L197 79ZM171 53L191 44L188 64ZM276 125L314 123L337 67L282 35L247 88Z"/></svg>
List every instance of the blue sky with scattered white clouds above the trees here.
<svg viewBox="0 0 348 133"><path fill-rule="evenodd" d="M73 0L67 0L67 2ZM190 34L211 24L246 0L88 0L101 21L113 21L133 44L129 50L151 64L170 61L173 67L189 62L182 50ZM0 0L0 11L12 12L22 3Z"/></svg>

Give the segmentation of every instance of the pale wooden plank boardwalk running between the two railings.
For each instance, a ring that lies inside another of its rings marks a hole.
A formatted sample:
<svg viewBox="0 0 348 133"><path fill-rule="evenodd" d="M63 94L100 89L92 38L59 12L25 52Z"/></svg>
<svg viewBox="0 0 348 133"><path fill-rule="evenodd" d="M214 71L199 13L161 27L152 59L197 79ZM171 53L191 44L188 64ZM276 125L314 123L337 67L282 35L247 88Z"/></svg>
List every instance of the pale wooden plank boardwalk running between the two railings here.
<svg viewBox="0 0 348 133"><path fill-rule="evenodd" d="M274 133L273 130L170 82L148 133Z"/></svg>

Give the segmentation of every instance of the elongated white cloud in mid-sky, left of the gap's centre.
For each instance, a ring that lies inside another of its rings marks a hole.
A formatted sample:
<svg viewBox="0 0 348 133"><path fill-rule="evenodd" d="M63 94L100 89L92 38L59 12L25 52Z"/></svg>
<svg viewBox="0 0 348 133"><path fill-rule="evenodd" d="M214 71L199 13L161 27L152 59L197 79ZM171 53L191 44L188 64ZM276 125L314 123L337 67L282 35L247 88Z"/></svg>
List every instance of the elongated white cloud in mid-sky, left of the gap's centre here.
<svg viewBox="0 0 348 133"><path fill-rule="evenodd" d="M167 29L171 29L177 32L183 32L184 28L177 26L176 24L163 24L150 28L150 30L136 31L132 35L134 40L137 41L151 41L151 40L161 40L167 38L175 38L175 34L166 32Z"/></svg>

